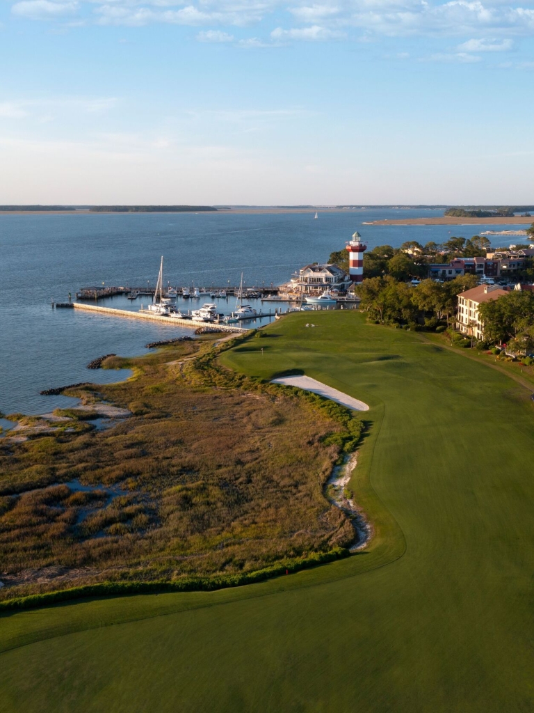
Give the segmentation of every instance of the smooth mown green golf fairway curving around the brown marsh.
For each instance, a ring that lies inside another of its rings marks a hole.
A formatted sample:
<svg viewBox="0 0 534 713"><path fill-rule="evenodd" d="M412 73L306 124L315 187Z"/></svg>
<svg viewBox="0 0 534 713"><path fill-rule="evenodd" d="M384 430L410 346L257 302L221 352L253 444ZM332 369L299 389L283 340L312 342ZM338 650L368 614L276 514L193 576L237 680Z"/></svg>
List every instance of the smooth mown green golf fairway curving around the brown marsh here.
<svg viewBox="0 0 534 713"><path fill-rule="evenodd" d="M369 552L236 590L4 614L0 710L534 710L529 391L360 314L310 319L221 361L370 404L350 483Z"/></svg>

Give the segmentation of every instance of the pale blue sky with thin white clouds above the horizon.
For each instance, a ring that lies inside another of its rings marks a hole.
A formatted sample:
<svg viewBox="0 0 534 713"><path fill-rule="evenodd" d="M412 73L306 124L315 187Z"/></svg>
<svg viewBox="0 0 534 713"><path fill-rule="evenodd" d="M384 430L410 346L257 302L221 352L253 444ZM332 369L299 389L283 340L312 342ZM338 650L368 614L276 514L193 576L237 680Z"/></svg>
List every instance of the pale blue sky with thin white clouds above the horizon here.
<svg viewBox="0 0 534 713"><path fill-rule="evenodd" d="M0 204L527 204L534 0L0 0Z"/></svg>

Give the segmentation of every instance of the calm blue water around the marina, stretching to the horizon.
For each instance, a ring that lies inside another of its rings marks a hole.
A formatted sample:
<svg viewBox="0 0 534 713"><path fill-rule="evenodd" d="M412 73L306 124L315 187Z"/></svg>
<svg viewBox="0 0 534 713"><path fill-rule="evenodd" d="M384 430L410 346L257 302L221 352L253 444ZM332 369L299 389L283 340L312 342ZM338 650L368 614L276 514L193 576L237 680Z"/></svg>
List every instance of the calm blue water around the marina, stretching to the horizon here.
<svg viewBox="0 0 534 713"><path fill-rule="evenodd" d="M120 372L85 367L103 354L142 354L147 342L192 334L187 328L51 309L51 299L66 301L69 292L102 282L140 286L150 280L153 285L161 255L165 284L239 284L244 271L248 286L270 285L286 282L307 262L327 260L355 230L370 247L442 242L450 235L471 237L476 230L362 225L421 215L441 211L319 212L318 220L309 213L0 215L0 411L39 414L71 404L66 396L39 396L39 391L76 381L116 381ZM117 297L99 304L135 308L146 300L132 306ZM233 300L220 302L221 312L234 309Z"/></svg>

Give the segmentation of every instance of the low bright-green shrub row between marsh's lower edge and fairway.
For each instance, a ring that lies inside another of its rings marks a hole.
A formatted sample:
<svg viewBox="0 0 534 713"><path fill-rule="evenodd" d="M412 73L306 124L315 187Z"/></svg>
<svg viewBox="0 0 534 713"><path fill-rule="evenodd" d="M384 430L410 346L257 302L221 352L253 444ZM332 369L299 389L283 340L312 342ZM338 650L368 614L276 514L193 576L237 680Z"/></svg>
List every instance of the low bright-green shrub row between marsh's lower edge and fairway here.
<svg viewBox="0 0 534 713"><path fill-rule="evenodd" d="M184 577L179 580L155 580L154 582L102 582L70 589L33 594L28 597L16 597L0 602L0 612L6 610L34 609L56 602L66 602L84 597L107 597L110 595L133 595L165 592L213 592L230 587L242 587L256 582L263 582L280 575L293 574L310 569L350 555L349 550L341 547L329 552L312 553L307 558L288 560L271 567L233 575L214 575L213 577Z"/></svg>

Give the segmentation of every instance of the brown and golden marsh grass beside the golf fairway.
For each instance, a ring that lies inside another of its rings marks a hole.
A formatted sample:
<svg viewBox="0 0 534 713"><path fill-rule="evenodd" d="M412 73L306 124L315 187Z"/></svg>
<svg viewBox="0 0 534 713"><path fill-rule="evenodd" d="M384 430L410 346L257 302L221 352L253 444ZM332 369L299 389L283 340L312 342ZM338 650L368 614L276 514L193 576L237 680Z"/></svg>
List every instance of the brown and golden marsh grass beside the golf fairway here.
<svg viewBox="0 0 534 713"><path fill-rule="evenodd" d="M323 487L361 421L314 394L221 367L219 354L240 341L217 347L203 337L114 356L105 366L133 369L132 379L71 391L130 409L130 419L98 432L66 409L63 424L81 431L1 448L0 597L249 573L350 544L350 522ZM73 480L93 489L73 491ZM114 486L127 494L102 490ZM61 580L43 577L58 567Z"/></svg>

